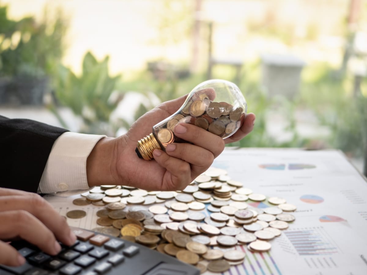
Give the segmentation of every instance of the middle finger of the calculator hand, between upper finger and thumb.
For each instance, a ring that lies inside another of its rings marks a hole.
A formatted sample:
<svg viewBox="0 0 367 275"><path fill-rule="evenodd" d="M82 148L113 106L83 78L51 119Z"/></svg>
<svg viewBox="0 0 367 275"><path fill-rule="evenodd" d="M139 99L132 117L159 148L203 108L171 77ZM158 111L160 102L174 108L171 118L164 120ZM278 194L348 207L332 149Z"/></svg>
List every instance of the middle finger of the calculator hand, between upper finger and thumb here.
<svg viewBox="0 0 367 275"><path fill-rule="evenodd" d="M19 236L38 246L44 252L56 255L61 246L54 234L40 220L25 210L11 210L0 212L1 239L11 239Z"/></svg>

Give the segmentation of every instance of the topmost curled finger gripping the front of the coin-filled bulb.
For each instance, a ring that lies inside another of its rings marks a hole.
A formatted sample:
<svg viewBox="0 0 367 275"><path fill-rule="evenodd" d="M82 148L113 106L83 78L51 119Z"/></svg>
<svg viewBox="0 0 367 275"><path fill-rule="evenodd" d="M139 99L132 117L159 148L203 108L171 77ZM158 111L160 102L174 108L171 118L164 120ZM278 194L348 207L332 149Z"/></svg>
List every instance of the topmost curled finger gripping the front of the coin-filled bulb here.
<svg viewBox="0 0 367 275"><path fill-rule="evenodd" d="M221 137L195 125L179 123L175 126L174 132L177 137L210 151L214 155L214 158L218 157L224 150L225 143ZM199 150L199 148L197 149ZM192 153L197 156L197 153Z"/></svg>

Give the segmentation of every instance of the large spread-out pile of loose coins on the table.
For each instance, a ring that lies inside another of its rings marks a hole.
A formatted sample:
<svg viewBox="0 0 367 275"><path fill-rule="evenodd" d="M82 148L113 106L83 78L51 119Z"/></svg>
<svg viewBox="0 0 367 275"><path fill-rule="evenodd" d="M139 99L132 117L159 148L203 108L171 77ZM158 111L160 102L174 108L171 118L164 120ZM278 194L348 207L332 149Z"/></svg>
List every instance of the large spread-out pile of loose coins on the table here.
<svg viewBox="0 0 367 275"><path fill-rule="evenodd" d="M243 263L245 253L270 250L295 217L296 206L266 197L210 168L183 191L145 191L129 186L98 186L75 205L103 206L92 230L141 243L193 264L202 272L225 272ZM262 202L266 208L251 206ZM80 210L78 210L80 211ZM69 218L84 217L72 210ZM240 245L240 246L238 246Z"/></svg>

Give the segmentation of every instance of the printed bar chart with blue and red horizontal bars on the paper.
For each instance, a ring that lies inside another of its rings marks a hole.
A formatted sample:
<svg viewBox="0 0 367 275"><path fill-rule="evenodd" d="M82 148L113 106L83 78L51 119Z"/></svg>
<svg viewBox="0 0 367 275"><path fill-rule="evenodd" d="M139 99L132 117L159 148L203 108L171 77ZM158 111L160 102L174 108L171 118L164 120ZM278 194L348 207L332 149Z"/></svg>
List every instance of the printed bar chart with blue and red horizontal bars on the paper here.
<svg viewBox="0 0 367 275"><path fill-rule="evenodd" d="M283 231L300 256L338 253L334 241L322 227L288 229Z"/></svg>

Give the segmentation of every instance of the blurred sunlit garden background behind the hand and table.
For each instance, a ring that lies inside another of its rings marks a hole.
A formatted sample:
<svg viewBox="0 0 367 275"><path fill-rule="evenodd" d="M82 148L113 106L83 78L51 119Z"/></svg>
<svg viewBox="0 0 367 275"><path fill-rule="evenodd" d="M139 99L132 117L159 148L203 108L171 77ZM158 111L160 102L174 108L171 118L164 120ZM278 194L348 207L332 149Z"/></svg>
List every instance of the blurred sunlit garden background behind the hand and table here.
<svg viewBox="0 0 367 275"><path fill-rule="evenodd" d="M337 148L367 173L366 0L0 0L0 114L119 136L210 78L257 115L231 146Z"/></svg>

